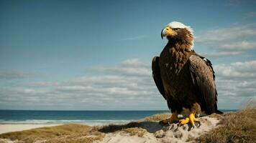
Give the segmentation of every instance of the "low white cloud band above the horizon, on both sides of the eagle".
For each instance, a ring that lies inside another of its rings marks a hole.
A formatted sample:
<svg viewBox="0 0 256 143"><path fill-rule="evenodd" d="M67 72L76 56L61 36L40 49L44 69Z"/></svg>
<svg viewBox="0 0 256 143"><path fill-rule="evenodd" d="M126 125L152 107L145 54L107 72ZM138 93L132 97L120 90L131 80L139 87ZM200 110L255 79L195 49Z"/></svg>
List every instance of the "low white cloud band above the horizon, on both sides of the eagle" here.
<svg viewBox="0 0 256 143"><path fill-rule="evenodd" d="M152 79L150 64L140 59L128 59L117 66L93 68L98 71L93 76L0 87L0 107L168 109ZM256 61L214 67L220 108L239 108L245 99L256 96ZM127 68L132 70L127 71Z"/></svg>

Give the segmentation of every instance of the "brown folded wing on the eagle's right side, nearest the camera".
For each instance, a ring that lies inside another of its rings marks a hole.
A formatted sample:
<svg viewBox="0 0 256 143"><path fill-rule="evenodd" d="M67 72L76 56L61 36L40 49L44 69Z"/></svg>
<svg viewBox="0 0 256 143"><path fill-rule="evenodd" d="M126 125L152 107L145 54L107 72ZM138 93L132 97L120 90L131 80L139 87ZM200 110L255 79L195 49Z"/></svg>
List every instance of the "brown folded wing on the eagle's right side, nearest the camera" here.
<svg viewBox="0 0 256 143"><path fill-rule="evenodd" d="M201 108L206 114L218 113L215 75L211 61L203 56L191 55L189 57L189 69L197 97L201 102Z"/></svg>

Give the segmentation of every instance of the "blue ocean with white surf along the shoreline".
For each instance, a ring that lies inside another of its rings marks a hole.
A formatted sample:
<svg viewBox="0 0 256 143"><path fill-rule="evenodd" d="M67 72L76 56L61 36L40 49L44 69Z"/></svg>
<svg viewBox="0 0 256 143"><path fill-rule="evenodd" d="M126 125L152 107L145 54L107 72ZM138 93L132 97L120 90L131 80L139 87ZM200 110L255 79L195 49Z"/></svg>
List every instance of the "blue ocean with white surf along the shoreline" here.
<svg viewBox="0 0 256 143"><path fill-rule="evenodd" d="M233 112L235 110L221 110ZM170 111L42 111L0 110L0 124L122 124Z"/></svg>

